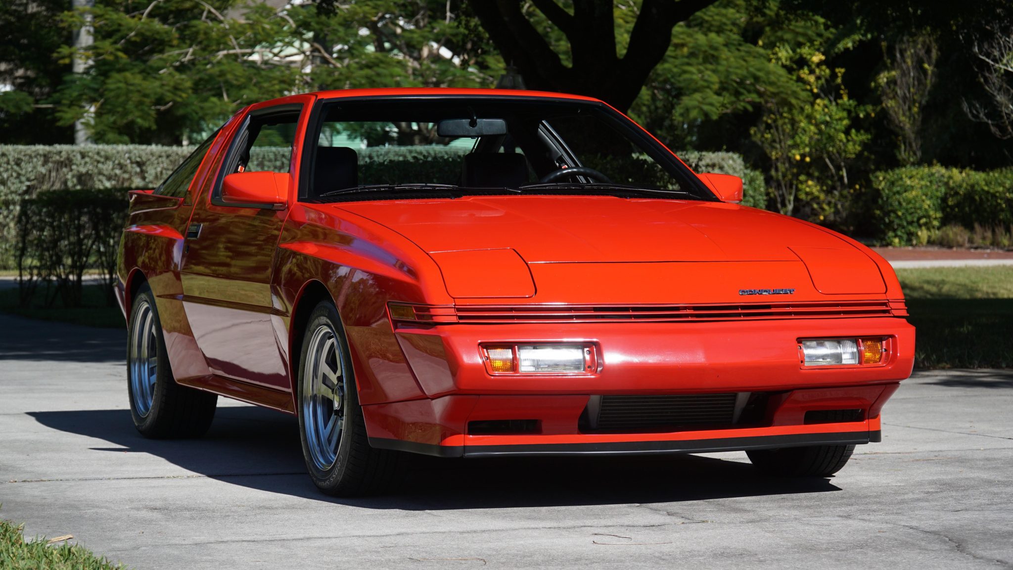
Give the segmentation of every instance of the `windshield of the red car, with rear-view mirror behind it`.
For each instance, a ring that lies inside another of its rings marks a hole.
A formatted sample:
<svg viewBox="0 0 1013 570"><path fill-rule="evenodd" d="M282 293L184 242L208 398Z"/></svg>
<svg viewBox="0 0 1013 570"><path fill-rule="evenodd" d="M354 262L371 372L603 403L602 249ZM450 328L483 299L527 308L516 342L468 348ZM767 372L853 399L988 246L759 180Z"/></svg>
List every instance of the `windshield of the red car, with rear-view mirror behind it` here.
<svg viewBox="0 0 1013 570"><path fill-rule="evenodd" d="M509 97L324 104L306 198L610 194L713 200L660 144L606 105Z"/></svg>

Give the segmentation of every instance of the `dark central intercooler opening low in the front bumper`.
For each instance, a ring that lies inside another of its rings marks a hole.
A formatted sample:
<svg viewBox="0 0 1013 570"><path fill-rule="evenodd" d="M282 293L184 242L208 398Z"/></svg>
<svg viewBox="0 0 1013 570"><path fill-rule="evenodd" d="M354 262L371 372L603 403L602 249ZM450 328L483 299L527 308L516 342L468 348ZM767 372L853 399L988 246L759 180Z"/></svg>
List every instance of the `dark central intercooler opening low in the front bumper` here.
<svg viewBox="0 0 1013 570"><path fill-rule="evenodd" d="M630 430L731 424L734 393L684 396L603 396L597 429Z"/></svg>

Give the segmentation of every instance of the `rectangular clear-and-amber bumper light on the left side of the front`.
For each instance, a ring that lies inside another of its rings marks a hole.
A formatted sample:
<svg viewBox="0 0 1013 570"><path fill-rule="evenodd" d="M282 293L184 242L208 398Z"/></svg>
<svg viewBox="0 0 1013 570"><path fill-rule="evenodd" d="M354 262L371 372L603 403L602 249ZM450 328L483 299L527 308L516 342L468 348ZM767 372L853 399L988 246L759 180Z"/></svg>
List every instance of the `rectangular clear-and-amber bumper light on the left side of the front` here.
<svg viewBox="0 0 1013 570"><path fill-rule="evenodd" d="M592 373L599 368L591 343L483 345L482 359L491 374Z"/></svg>

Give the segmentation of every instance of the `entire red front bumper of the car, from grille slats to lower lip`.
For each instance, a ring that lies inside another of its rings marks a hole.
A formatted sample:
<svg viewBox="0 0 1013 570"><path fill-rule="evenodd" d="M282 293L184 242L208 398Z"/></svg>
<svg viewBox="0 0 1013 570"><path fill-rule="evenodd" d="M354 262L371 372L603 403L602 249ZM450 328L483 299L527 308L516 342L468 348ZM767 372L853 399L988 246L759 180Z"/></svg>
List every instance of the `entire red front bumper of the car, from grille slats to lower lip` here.
<svg viewBox="0 0 1013 570"><path fill-rule="evenodd" d="M656 454L860 444L879 440L879 411L911 374L914 328L903 318L686 324L453 325L399 329L428 398L364 406L375 447L441 456ZM803 368L797 341L888 337L878 366ZM478 347L496 342L592 342L601 370L490 375ZM763 394L750 422L678 431L599 432L593 396ZM859 410L857 421L807 423L806 412ZM525 421L524 433L476 433L474 422Z"/></svg>

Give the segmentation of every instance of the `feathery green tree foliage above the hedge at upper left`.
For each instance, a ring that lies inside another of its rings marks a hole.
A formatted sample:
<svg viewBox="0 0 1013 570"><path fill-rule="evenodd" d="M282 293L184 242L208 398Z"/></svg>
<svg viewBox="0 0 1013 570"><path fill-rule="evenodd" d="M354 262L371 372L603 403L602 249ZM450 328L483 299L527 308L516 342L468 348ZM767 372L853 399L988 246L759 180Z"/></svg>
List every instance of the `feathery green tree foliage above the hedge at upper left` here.
<svg viewBox="0 0 1013 570"><path fill-rule="evenodd" d="M67 12L68 29L90 13L94 44L83 54L64 46L58 57L93 63L65 77L55 97L61 122L84 118L99 143L177 144L244 104L292 92L300 70L277 43L286 20L263 4L228 15L237 3L97 0L88 11Z"/></svg>

